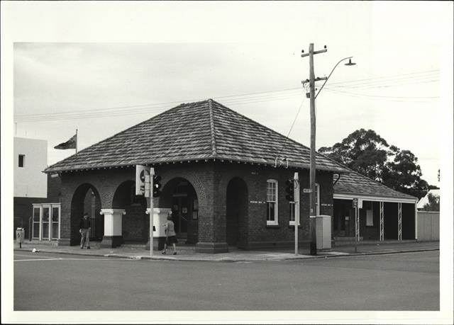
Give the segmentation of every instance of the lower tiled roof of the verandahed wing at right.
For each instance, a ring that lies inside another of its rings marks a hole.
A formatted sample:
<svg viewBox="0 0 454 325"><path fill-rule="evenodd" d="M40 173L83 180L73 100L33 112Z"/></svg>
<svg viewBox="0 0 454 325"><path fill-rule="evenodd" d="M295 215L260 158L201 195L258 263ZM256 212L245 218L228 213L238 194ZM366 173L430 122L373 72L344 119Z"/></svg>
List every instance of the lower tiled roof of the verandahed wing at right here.
<svg viewBox="0 0 454 325"><path fill-rule="evenodd" d="M416 200L414 196L400 193L397 190L393 190L392 188L384 186L377 181L373 181L372 179L361 175L356 171L352 171L351 169L347 169L345 173L342 173L341 178L339 178L339 181L334 185L334 193L335 195L370 195Z"/></svg>

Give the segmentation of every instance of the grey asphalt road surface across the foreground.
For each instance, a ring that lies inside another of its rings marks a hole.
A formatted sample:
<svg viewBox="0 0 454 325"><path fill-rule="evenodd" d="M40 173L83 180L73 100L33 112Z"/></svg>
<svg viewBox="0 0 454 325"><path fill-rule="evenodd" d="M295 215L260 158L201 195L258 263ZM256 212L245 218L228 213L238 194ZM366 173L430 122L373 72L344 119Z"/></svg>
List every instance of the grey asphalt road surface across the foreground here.
<svg viewBox="0 0 454 325"><path fill-rule="evenodd" d="M265 262L14 252L14 310L438 310L439 252Z"/></svg>

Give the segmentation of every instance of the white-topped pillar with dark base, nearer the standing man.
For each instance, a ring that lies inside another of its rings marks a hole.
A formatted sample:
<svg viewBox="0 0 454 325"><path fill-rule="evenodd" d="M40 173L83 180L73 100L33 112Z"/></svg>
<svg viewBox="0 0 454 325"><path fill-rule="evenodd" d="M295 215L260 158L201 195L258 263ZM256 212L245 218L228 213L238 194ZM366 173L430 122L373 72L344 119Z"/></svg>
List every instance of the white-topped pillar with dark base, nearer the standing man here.
<svg viewBox="0 0 454 325"><path fill-rule="evenodd" d="M116 247L123 244L121 234L121 217L126 215L123 209L101 209L100 215L104 215L104 236L101 247Z"/></svg>

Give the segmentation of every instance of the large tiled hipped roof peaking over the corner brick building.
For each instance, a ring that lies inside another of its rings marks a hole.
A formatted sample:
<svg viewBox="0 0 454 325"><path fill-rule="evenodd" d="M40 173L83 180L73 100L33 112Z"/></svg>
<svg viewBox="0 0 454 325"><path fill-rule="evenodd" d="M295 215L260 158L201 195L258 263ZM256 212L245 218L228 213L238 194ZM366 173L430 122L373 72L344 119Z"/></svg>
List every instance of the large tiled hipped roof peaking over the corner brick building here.
<svg viewBox="0 0 454 325"><path fill-rule="evenodd" d="M287 157L289 166L309 169L309 154L304 145L209 99L171 108L53 164L45 172L204 159L274 166L278 155ZM319 154L316 168L345 171Z"/></svg>

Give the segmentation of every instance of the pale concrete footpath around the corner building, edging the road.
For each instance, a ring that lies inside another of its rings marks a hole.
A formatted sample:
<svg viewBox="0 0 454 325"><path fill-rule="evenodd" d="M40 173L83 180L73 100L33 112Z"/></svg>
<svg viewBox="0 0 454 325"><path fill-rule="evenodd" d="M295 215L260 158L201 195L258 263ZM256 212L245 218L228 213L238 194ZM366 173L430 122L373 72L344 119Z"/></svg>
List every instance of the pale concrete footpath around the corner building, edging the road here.
<svg viewBox="0 0 454 325"><path fill-rule="evenodd" d="M194 246L177 246L177 255L171 255L172 249L167 250L167 255L162 255L160 251L145 250L143 244L124 244L120 247L101 248L99 242L92 242L91 249L80 249L79 246L57 246L52 242L26 241L19 248L19 244L14 243L14 251L33 251L36 254L41 253L66 253L85 256L104 256L116 258L131 259L153 259L168 261L220 261L220 262L238 262L238 261L284 261L307 258L332 258L341 256L362 256L377 255L389 253L409 253L417 251L439 251L439 241L406 241L402 243L380 244L360 244L355 251L355 246L334 246L328 251L319 251L316 256L309 254L307 247L299 249L299 254L294 253L294 249L276 249L267 251L244 251L240 249L231 249L228 253L196 253Z"/></svg>

